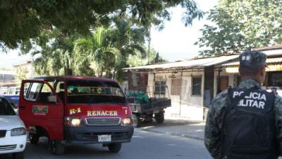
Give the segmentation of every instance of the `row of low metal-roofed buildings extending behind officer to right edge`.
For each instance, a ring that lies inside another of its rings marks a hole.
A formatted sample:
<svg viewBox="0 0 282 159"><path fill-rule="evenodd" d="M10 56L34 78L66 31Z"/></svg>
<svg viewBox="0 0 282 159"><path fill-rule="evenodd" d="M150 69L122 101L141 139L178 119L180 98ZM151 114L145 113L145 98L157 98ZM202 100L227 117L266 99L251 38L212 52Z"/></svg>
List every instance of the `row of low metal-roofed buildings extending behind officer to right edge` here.
<svg viewBox="0 0 282 159"><path fill-rule="evenodd" d="M267 55L263 88L276 88L282 95L282 45L255 49ZM166 114L204 120L215 95L240 83L240 54L188 59L168 64L125 68L129 72L128 89L153 92L172 100ZM167 88L166 88L167 86ZM147 87L147 90L144 89ZM143 89L140 89L143 88ZM150 89L150 90L148 90ZM168 91L164 91L168 90Z"/></svg>

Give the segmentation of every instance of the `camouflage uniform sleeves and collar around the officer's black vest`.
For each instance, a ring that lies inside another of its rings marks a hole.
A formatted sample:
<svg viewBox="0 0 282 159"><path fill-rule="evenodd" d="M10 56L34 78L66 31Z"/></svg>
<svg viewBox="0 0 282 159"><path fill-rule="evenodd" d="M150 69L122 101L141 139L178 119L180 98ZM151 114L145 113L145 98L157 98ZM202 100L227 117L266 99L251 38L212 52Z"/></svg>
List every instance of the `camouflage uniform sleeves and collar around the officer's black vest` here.
<svg viewBox="0 0 282 159"><path fill-rule="evenodd" d="M253 79L243 80L238 88L257 88L262 89L259 83ZM226 158L221 156L221 128L223 124L223 117L226 110L226 105L230 103L228 98L228 91L224 90L219 95L216 95L212 105L209 107L207 115L207 124L204 131L204 145L209 153L215 159ZM276 95L274 101L274 111L276 113L276 139L279 143L279 153L282 152L282 98Z"/></svg>

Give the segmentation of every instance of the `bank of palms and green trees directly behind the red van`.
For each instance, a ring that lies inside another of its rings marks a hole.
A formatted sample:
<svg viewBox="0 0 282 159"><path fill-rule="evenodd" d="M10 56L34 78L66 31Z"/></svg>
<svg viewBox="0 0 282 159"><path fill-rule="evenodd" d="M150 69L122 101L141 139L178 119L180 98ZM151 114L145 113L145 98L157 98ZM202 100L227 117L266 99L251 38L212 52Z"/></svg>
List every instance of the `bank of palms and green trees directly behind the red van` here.
<svg viewBox="0 0 282 159"><path fill-rule="evenodd" d="M119 78L130 54L145 57L144 28L115 18L109 28L99 27L91 36L67 36L54 30L50 40L33 52L35 71L44 75L85 75Z"/></svg>

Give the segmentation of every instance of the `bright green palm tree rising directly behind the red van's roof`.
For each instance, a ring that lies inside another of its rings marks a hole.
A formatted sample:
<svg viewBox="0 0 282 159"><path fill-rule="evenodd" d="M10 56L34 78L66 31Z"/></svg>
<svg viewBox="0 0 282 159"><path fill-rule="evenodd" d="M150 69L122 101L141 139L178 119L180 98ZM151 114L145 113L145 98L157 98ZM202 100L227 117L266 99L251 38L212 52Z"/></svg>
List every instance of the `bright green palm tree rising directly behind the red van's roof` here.
<svg viewBox="0 0 282 159"><path fill-rule="evenodd" d="M101 77L106 72L106 77L110 77L121 56L120 51L109 42L111 31L109 28L99 27L92 37L75 41L75 71L81 73L85 66L89 67L93 62L97 76Z"/></svg>

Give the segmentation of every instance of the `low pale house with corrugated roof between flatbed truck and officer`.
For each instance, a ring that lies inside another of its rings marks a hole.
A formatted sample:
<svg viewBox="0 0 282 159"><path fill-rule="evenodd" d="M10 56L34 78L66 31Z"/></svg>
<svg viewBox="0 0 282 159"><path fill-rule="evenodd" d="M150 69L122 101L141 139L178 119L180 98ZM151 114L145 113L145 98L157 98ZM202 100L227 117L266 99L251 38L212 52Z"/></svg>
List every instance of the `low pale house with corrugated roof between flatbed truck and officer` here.
<svg viewBox="0 0 282 159"><path fill-rule="evenodd" d="M166 114L203 120L216 93L228 87L228 81L218 73L221 65L236 61L238 56L228 54L123 70L129 72L130 90L142 90L150 92L149 95L171 98L172 107L166 110Z"/></svg>

